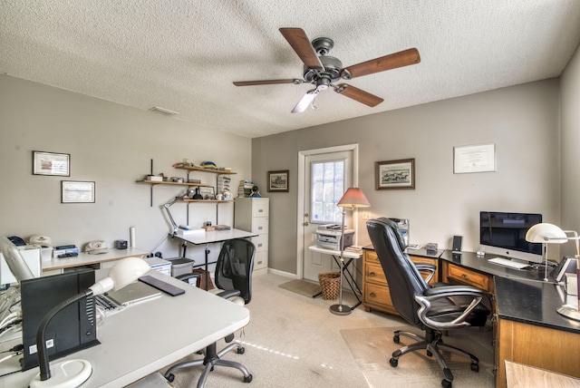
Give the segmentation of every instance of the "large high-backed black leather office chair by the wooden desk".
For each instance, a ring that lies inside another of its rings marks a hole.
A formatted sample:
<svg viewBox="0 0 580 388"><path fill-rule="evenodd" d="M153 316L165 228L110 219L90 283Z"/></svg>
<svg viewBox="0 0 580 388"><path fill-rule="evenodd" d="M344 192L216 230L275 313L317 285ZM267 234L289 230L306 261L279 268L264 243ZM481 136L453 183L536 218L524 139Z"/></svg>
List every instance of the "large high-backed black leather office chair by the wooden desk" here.
<svg viewBox="0 0 580 388"><path fill-rule="evenodd" d="M395 331L393 341L399 344L400 335L417 341L392 353L391 366L399 364L399 357L409 352L426 349L434 355L445 376L441 385L451 387L453 374L440 350L459 354L471 360L471 370L479 371L479 360L473 355L449 344L443 344L442 331L469 326L486 325L488 307L481 304L485 293L472 286L438 284L430 287L420 270L434 271L434 266L418 265L404 252L406 248L397 224L389 218L367 221L366 228L382 270L391 290L392 304L409 324L425 331L425 337L409 332ZM418 269L419 268L419 269Z"/></svg>

